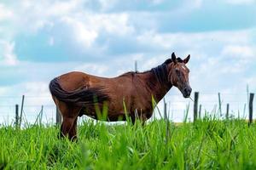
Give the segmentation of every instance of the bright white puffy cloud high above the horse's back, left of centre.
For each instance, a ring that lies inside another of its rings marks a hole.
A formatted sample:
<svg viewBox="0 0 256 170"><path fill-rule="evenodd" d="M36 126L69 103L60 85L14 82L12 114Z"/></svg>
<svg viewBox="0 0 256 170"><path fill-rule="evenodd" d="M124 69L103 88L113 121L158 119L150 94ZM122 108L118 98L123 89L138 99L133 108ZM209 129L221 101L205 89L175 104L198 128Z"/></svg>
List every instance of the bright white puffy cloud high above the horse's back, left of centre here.
<svg viewBox="0 0 256 170"><path fill-rule="evenodd" d="M115 36L127 36L134 31L128 24L127 14L81 13L74 17L61 17L76 42L90 48L102 33Z"/></svg>

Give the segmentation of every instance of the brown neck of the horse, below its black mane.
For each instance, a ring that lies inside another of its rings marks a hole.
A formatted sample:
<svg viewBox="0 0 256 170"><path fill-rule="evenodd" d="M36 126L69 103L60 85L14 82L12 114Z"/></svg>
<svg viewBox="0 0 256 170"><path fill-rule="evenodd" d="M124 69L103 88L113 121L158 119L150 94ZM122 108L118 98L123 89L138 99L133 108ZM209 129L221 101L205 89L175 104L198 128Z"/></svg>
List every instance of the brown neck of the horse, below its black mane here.
<svg viewBox="0 0 256 170"><path fill-rule="evenodd" d="M161 99L163 99L167 92L172 88L172 84L169 82L160 83L155 77L154 73L151 71L148 72L146 77L148 91L150 95L154 96L154 100L156 100L156 102L159 102Z"/></svg>

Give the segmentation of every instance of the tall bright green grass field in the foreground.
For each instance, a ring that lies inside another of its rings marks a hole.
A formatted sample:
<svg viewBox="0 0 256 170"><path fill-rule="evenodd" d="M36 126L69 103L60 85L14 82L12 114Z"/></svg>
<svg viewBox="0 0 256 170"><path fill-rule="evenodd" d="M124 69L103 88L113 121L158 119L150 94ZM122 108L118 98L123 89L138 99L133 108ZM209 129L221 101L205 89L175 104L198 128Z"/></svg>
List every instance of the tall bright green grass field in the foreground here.
<svg viewBox="0 0 256 170"><path fill-rule="evenodd" d="M256 169L256 126L205 118L106 125L84 122L79 141L58 127L0 128L0 169Z"/></svg>

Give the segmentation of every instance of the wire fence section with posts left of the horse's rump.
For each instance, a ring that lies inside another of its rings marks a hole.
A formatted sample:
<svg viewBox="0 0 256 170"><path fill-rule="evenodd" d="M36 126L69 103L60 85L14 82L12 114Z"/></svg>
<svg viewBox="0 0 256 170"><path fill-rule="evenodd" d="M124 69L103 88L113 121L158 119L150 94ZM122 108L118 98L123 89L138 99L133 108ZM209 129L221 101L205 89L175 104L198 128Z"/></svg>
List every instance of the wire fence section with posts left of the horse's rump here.
<svg viewBox="0 0 256 170"><path fill-rule="evenodd" d="M50 96L0 96L0 124L54 123L55 105Z"/></svg>

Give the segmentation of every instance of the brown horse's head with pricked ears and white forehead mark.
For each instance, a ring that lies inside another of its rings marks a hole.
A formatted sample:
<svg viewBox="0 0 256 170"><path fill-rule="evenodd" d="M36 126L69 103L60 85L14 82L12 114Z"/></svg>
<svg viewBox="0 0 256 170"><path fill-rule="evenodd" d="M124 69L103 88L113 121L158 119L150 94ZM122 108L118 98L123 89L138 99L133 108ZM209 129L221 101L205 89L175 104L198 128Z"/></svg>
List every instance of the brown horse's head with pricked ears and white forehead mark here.
<svg viewBox="0 0 256 170"><path fill-rule="evenodd" d="M168 65L168 81L181 91L184 98L189 98L192 91L189 85L189 69L186 66L189 59L190 55L186 59L180 59L172 53L172 62Z"/></svg>

